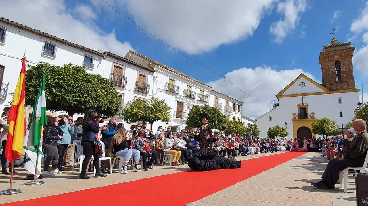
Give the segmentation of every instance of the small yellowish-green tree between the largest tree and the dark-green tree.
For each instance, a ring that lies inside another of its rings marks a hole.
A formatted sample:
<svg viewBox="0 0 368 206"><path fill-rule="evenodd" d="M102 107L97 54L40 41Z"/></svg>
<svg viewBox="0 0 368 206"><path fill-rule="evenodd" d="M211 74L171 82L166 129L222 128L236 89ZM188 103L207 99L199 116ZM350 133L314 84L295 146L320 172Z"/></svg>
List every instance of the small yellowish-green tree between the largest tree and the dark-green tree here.
<svg viewBox="0 0 368 206"><path fill-rule="evenodd" d="M136 99L125 104L121 114L128 124L148 122L153 129L153 122L170 122L170 109L171 107L167 106L165 100L157 98L150 98L148 101Z"/></svg>

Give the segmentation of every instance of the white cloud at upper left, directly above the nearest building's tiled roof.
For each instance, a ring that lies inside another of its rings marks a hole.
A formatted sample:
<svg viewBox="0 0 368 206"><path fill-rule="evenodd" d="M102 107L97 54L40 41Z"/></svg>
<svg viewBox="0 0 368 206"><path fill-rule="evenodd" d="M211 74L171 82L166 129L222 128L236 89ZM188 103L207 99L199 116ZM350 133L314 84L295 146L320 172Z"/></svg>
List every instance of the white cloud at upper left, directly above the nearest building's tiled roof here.
<svg viewBox="0 0 368 206"><path fill-rule="evenodd" d="M103 32L93 22L92 8L87 7L67 9L63 0L1 1L0 16L85 47L125 56L132 49L130 43L118 41L114 30Z"/></svg>

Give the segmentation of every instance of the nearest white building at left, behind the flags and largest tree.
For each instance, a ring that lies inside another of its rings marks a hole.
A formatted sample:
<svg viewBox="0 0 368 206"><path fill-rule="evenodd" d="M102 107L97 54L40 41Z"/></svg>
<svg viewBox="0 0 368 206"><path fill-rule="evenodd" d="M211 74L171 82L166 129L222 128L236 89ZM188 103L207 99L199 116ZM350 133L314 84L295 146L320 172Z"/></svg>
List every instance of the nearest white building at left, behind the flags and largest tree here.
<svg viewBox="0 0 368 206"><path fill-rule="evenodd" d="M133 99L147 99L152 96L154 71L107 51L89 49L67 40L40 32L19 23L0 18L0 110L9 106L21 70L20 59L26 51L29 65L39 61L57 66L66 63L83 65L88 73L109 78L121 97L121 104ZM26 118L32 108L26 108ZM64 112L47 115L65 114ZM74 119L81 115L75 115ZM119 115L117 115L119 116ZM117 117L121 122L121 117ZM125 122L123 122L125 124Z"/></svg>

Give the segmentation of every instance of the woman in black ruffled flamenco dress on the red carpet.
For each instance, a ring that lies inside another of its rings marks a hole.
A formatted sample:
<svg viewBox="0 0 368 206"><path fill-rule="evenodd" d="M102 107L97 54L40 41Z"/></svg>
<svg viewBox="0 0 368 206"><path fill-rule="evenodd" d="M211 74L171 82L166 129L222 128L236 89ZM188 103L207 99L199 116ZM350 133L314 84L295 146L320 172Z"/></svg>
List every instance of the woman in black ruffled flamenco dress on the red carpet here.
<svg viewBox="0 0 368 206"><path fill-rule="evenodd" d="M216 150L209 148L217 139L212 137L212 128L208 125L208 115L202 114L199 119L203 125L199 129L199 135L195 135L194 139L199 142L201 149L193 152L192 156L188 157L188 166L197 171L241 168L240 161L235 158L223 158L218 155Z"/></svg>

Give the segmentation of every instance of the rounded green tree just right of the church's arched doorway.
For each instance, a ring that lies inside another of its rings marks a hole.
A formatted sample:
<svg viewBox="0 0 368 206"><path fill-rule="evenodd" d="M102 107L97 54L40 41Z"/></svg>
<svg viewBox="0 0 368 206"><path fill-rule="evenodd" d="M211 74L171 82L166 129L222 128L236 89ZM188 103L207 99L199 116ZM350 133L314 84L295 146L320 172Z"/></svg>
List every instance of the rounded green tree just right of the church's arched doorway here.
<svg viewBox="0 0 368 206"><path fill-rule="evenodd" d="M336 121L329 118L316 119L312 122L312 132L315 135L323 135L323 138L341 134Z"/></svg>

